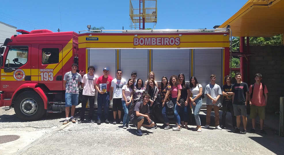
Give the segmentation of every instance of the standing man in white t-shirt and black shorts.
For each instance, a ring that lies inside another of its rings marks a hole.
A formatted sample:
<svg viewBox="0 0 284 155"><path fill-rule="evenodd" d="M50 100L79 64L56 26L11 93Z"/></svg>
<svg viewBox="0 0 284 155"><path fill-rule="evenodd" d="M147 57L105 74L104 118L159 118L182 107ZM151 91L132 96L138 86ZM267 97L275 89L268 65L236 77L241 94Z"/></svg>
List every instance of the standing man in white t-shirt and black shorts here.
<svg viewBox="0 0 284 155"><path fill-rule="evenodd" d="M116 78L111 81L109 100L113 98L112 101L112 111L113 111L113 124L119 123L123 124L121 121L121 111L122 108L122 87L126 85L126 80L121 78L122 71L118 69L116 71ZM118 120L116 120L116 114L118 113Z"/></svg>

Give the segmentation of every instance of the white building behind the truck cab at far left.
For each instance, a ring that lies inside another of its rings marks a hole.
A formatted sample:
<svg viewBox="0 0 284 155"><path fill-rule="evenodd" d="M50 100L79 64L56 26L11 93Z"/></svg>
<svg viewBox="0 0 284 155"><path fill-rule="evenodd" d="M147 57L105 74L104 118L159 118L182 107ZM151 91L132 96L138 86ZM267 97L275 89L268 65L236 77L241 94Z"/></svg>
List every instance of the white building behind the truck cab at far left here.
<svg viewBox="0 0 284 155"><path fill-rule="evenodd" d="M16 35L16 30L16 27L0 22L0 46L3 45L6 38L11 38L12 35Z"/></svg>

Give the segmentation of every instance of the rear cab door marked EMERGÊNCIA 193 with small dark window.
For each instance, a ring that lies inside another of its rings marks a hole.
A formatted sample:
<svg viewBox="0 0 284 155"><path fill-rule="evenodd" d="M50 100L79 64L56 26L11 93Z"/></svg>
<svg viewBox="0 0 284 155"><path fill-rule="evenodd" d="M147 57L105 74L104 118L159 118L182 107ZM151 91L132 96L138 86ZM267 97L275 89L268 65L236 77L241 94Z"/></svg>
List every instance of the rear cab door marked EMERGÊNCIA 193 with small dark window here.
<svg viewBox="0 0 284 155"><path fill-rule="evenodd" d="M39 45L39 83L49 90L63 90L62 45Z"/></svg>

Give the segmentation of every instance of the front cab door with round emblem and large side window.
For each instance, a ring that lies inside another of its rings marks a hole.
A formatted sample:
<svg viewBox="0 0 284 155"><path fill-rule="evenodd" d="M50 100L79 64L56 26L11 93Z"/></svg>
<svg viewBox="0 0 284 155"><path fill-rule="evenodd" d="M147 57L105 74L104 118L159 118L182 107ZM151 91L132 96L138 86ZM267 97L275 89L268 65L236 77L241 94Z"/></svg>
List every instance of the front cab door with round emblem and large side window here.
<svg viewBox="0 0 284 155"><path fill-rule="evenodd" d="M22 84L31 82L31 45L7 48L1 69L1 90L15 91Z"/></svg>

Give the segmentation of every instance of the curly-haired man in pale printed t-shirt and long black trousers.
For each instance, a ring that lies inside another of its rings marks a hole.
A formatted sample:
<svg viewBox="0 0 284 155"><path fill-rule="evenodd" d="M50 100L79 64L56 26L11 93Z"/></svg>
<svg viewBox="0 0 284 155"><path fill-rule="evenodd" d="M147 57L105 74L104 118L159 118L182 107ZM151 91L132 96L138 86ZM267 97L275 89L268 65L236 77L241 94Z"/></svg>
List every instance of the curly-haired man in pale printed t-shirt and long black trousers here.
<svg viewBox="0 0 284 155"><path fill-rule="evenodd" d="M78 124L81 124L84 121L85 109L87 102L89 100L90 112L89 112L89 122L94 123L94 103L95 103L95 85L98 80L98 77L94 75L95 67L88 67L88 74L85 74L82 78L82 87L83 87L83 99L82 99L82 108L81 108L81 116L80 120L78 120Z"/></svg>

